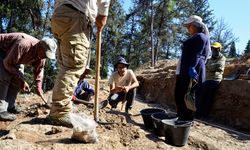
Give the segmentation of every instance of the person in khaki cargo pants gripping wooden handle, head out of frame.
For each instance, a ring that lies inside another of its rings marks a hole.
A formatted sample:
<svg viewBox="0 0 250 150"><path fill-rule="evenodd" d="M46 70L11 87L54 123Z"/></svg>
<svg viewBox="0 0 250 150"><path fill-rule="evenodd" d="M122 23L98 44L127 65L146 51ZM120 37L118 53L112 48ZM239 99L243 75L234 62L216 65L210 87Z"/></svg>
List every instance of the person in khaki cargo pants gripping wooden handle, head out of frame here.
<svg viewBox="0 0 250 150"><path fill-rule="evenodd" d="M70 119L71 97L87 64L92 24L95 22L97 30L102 31L109 3L109 0L55 0L51 29L59 44L59 72L49 114L53 124L73 126Z"/></svg>

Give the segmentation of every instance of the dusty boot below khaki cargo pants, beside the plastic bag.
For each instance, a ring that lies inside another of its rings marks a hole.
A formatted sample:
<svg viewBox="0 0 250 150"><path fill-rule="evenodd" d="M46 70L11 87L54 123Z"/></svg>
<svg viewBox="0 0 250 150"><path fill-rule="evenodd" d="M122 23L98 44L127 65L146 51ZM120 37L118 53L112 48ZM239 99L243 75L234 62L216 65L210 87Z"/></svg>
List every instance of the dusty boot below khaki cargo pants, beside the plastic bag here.
<svg viewBox="0 0 250 150"><path fill-rule="evenodd" d="M73 124L70 118L70 114L64 114L60 117L57 116L49 116L48 120L50 121L50 123L52 125L56 125L56 126L65 126L65 127L69 127L72 128Z"/></svg>

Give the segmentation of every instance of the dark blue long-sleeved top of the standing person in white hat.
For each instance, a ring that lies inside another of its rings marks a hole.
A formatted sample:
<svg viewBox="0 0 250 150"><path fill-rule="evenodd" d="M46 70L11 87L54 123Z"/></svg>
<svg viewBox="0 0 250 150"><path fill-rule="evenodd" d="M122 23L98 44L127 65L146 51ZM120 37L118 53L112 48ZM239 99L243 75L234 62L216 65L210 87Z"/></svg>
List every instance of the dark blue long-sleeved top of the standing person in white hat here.
<svg viewBox="0 0 250 150"><path fill-rule="evenodd" d="M204 82L206 77L205 61L209 53L209 39L204 33L197 33L183 42L180 76L189 78L188 69L194 67L198 73L198 81Z"/></svg>

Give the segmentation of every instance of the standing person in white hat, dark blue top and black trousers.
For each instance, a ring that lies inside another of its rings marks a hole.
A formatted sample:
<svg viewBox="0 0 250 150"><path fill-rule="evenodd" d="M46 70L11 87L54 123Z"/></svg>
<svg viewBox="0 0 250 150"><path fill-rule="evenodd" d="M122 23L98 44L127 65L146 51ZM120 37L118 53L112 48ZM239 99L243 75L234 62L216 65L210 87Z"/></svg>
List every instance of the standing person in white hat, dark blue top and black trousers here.
<svg viewBox="0 0 250 150"><path fill-rule="evenodd" d="M192 15L184 23L191 34L182 45L182 55L177 70L175 85L175 102L179 120L193 120L193 111L189 110L185 104L185 94L187 93L190 80L198 82L191 89L194 95L196 87L205 81L205 61L210 51L210 38L206 25L201 17Z"/></svg>

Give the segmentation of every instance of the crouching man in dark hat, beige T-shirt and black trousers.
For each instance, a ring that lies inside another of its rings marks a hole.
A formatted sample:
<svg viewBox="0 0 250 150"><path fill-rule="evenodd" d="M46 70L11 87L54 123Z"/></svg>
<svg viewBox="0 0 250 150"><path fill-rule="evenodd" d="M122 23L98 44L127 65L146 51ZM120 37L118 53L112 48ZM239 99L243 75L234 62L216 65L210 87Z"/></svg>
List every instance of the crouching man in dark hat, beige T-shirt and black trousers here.
<svg viewBox="0 0 250 150"><path fill-rule="evenodd" d="M116 108L118 102L127 101L125 112L131 113L132 105L136 96L136 87L139 82L136 79L134 72L128 69L129 63L123 57L119 57L115 68L117 69L109 78L110 95L108 98L112 108Z"/></svg>

